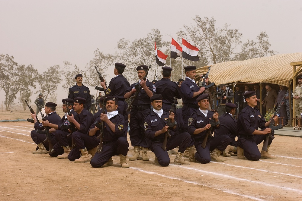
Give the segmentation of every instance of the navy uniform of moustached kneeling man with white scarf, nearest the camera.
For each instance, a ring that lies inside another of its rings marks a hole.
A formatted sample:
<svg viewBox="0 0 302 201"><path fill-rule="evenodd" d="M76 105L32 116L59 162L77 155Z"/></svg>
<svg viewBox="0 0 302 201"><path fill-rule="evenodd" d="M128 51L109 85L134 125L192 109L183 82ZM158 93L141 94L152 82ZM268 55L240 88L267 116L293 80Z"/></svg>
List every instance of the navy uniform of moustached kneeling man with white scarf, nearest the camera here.
<svg viewBox="0 0 302 201"><path fill-rule="evenodd" d="M97 119L98 123L101 122L101 119ZM96 152L95 156L92 158L90 164L94 168L101 167L104 165L112 156L114 155L127 155L128 153L128 141L124 137L124 130L127 130L127 126L124 126L124 117L121 114L117 114L114 117L110 118L110 121L115 124L115 131L112 132L107 123L104 122L104 137L103 137L103 147L100 153ZM94 128L93 124L90 128ZM88 132L89 132L88 130ZM98 130L95 133L95 136L98 136L100 131Z"/></svg>

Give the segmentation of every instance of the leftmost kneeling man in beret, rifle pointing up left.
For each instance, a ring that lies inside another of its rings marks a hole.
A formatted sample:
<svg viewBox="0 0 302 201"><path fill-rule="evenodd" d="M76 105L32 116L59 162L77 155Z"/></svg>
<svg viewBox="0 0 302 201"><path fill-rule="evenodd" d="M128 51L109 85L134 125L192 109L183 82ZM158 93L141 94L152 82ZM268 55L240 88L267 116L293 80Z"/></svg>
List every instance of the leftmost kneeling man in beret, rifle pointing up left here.
<svg viewBox="0 0 302 201"><path fill-rule="evenodd" d="M45 104L45 121L42 121L40 124L38 124L37 122L37 117L36 114L31 114L31 118L34 119L34 128L35 130L31 131L31 138L33 139L34 143L36 143L38 145L37 150L33 151L33 154L47 154L47 151L49 150L49 144L44 143L43 141L46 139L45 134L40 134L37 133L36 130L44 130L44 126L43 124L45 122L50 123L50 124L58 124L58 122L60 121L60 116L57 115L56 113L56 103L53 102L47 102ZM44 122L44 123L43 123ZM45 125L46 126L46 125ZM53 133L50 133L51 135L54 135ZM49 139L52 141L52 144L56 143L56 140L54 139L54 136Z"/></svg>

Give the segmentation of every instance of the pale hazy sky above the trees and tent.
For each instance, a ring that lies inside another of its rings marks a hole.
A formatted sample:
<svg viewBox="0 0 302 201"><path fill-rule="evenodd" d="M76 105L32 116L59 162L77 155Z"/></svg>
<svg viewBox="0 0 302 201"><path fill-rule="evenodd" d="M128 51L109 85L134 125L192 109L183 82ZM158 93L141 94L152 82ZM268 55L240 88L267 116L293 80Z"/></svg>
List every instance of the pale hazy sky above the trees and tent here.
<svg viewBox="0 0 302 201"><path fill-rule="evenodd" d="M97 48L114 53L121 38L145 37L152 28L159 29L164 40L176 38L195 15L213 16L217 27L232 24L243 33L243 42L266 31L271 49L302 52L301 14L298 0L0 0L0 53L13 55L18 64L33 64L40 72L54 64L62 67L63 61L84 68Z"/></svg>

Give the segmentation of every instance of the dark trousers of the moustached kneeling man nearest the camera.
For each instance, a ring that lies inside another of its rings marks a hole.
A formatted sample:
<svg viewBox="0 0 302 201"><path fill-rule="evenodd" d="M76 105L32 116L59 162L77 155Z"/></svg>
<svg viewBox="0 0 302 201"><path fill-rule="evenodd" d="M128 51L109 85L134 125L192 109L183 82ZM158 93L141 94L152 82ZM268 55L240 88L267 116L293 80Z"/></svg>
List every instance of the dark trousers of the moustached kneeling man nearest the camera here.
<svg viewBox="0 0 302 201"><path fill-rule="evenodd" d="M93 168L98 168L104 165L108 160L114 155L127 155L128 153L128 141L125 137L119 137L117 141L113 142L103 142L102 151L96 153L92 158L90 165Z"/></svg>

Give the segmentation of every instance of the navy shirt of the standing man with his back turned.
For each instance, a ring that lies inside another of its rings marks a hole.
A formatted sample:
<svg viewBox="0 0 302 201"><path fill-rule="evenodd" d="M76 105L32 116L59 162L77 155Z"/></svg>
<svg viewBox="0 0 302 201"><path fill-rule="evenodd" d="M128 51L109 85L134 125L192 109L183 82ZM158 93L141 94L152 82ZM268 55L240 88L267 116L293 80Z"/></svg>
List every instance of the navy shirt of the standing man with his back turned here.
<svg viewBox="0 0 302 201"><path fill-rule="evenodd" d="M162 95L162 110L169 112L174 102L174 97L176 96L177 99L182 98L178 84L172 82L169 78L162 78L154 85L156 86L156 94ZM177 101L175 103L177 104Z"/></svg>

